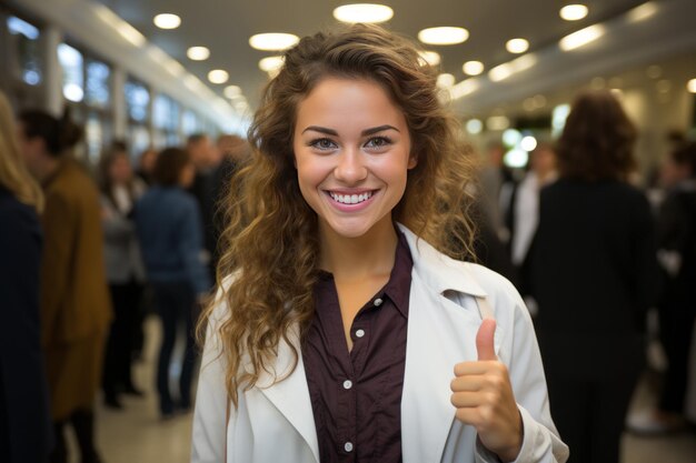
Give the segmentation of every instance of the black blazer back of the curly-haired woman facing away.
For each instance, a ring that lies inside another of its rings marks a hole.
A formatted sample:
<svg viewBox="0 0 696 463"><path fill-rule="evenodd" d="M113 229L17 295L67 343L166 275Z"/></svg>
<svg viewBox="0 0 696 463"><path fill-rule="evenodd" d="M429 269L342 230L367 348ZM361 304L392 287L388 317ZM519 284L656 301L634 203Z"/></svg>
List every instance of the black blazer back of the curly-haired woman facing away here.
<svg viewBox="0 0 696 463"><path fill-rule="evenodd" d="M642 356L657 292L655 252L649 205L637 189L561 179L541 191L530 283L545 363L603 374Z"/></svg>

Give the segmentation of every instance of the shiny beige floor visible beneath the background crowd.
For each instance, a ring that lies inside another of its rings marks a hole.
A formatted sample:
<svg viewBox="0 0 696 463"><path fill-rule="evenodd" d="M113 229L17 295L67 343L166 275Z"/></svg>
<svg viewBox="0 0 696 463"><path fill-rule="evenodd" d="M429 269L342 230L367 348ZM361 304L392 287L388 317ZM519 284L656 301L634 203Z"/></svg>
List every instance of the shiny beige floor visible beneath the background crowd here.
<svg viewBox="0 0 696 463"><path fill-rule="evenodd" d="M136 381L147 391L146 397L125 397L125 411L115 412L101 405L97 409L98 445L105 463L189 461L191 415L180 415L162 422L157 413L152 368L159 342L159 325L155 318L147 321L147 334L145 360L136 366ZM649 403L645 387L638 392L635 403L638 407ZM626 435L624 439L623 463L695 462L694 433L652 439Z"/></svg>

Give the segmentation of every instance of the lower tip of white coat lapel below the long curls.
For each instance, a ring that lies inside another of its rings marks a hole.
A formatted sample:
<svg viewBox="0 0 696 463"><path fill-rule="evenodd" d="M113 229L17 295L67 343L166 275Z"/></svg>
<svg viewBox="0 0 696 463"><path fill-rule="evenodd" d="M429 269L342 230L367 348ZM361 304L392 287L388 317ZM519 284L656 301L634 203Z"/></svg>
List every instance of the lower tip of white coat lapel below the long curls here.
<svg viewBox="0 0 696 463"><path fill-rule="evenodd" d="M274 382L274 375L264 372L257 387L302 436L311 449L315 461L319 463L317 431L297 332L290 333L289 338L299 355L297 368L285 378L285 374L292 368L294 352L290 344L280 340L275 371L278 372L278 378L285 379Z"/></svg>

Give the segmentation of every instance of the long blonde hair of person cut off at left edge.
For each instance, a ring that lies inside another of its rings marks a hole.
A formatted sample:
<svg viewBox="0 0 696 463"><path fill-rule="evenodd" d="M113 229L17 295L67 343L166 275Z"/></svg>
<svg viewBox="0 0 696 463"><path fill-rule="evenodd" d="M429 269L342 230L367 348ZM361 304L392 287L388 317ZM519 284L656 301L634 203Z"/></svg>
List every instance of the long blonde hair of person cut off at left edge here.
<svg viewBox="0 0 696 463"><path fill-rule="evenodd" d="M12 108L0 92L0 185L14 194L18 201L43 210L43 193L24 165L17 140L17 124Z"/></svg>

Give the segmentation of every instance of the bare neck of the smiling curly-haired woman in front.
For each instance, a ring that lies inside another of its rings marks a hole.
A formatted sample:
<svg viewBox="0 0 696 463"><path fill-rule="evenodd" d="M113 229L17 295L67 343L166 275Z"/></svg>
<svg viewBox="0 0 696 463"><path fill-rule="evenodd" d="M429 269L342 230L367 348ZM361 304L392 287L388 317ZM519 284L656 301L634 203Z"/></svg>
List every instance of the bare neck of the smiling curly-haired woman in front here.
<svg viewBox="0 0 696 463"><path fill-rule="evenodd" d="M366 234L346 238L337 234L327 223L319 224L320 268L331 272L336 280L361 280L375 274L389 274L398 242L397 233L387 217Z"/></svg>

